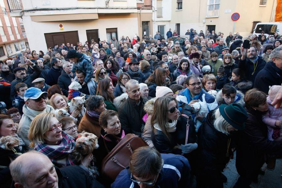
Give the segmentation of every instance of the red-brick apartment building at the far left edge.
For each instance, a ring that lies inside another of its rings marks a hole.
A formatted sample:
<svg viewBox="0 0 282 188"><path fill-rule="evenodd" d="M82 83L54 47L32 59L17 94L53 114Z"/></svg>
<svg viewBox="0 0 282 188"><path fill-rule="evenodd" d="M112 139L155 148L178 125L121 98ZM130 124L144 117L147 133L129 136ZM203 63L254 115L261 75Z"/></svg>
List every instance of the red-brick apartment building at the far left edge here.
<svg viewBox="0 0 282 188"><path fill-rule="evenodd" d="M0 0L0 60L6 60L22 52L28 45L21 18L11 16L11 8L21 10L18 1Z"/></svg>

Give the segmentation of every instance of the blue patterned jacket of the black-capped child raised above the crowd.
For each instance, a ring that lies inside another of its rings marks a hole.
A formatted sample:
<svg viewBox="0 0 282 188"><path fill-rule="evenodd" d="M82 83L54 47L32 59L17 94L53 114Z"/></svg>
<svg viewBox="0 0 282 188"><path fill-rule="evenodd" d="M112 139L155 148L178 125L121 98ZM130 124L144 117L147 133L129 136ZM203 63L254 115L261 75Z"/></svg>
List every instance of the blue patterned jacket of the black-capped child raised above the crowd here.
<svg viewBox="0 0 282 188"><path fill-rule="evenodd" d="M80 69L82 72L86 74L84 82L88 82L93 77L93 66L91 57L83 54L82 57L77 61L77 63L74 64L71 72L75 73L76 69Z"/></svg>

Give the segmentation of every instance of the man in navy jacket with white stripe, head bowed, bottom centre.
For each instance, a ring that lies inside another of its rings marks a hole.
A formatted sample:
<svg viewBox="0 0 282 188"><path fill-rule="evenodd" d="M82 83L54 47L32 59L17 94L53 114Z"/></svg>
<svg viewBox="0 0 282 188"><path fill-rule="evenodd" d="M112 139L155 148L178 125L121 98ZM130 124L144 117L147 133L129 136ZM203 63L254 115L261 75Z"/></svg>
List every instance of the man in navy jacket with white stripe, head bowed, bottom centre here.
<svg viewBox="0 0 282 188"><path fill-rule="evenodd" d="M119 173L112 188L188 187L189 179L190 164L185 157L160 154L156 149L144 146L134 150L129 167Z"/></svg>

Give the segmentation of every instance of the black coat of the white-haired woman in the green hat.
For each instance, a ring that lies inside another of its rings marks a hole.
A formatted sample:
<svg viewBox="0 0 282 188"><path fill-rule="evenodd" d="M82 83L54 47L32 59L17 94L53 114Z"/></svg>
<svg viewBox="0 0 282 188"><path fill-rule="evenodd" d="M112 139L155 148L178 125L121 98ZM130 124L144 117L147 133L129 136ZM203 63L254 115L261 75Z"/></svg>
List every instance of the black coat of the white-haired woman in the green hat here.
<svg viewBox="0 0 282 188"><path fill-rule="evenodd" d="M215 117L214 110L209 112L206 121L198 130L198 167L197 174L199 179L208 182L209 187L223 187L220 173L229 161L227 156L228 140L231 143L231 136L217 131L213 123ZM231 154L232 145L229 145ZM198 177L197 177L198 179ZM205 182L201 187L205 187Z"/></svg>

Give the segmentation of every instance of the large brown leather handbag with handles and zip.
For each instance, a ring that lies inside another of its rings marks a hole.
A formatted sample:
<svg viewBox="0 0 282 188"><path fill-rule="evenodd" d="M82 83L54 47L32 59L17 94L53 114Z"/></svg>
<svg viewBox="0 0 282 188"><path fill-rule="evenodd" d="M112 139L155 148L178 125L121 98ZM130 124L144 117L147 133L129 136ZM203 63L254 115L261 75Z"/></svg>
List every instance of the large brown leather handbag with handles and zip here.
<svg viewBox="0 0 282 188"><path fill-rule="evenodd" d="M105 138L107 135L108 134L106 134L104 137L104 144L106 150L109 152L105 143ZM114 182L120 171L122 171L126 168L126 166L129 165L130 156L133 151L142 146L148 146L148 144L135 134L127 134L123 139L120 139L112 134L111 136L114 136L115 138L120 140L120 142L103 159L101 176L111 182Z"/></svg>

